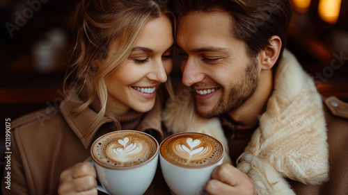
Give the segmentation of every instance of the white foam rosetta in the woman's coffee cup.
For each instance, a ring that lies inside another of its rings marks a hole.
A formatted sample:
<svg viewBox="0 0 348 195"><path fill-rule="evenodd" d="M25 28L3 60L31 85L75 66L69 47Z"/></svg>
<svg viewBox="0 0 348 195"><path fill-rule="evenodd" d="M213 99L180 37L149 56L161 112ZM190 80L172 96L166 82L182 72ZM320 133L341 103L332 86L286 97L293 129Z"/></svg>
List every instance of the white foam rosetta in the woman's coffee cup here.
<svg viewBox="0 0 348 195"><path fill-rule="evenodd" d="M118 143L109 145L106 149L108 158L123 163L133 159L134 155L141 153L143 145L141 143L129 141L129 137L125 137L123 139L118 139Z"/></svg>

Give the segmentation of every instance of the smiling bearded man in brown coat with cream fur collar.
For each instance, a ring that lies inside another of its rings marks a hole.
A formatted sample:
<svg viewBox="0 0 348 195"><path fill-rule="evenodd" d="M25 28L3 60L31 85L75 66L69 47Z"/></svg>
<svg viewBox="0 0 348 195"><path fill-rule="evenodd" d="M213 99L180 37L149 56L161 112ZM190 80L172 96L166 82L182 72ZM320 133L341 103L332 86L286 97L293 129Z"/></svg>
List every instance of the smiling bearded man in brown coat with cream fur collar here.
<svg viewBox="0 0 348 195"><path fill-rule="evenodd" d="M167 104L164 123L225 143L232 163L214 170L207 192L348 194L348 105L334 97L323 105L285 49L290 2L174 4L188 87Z"/></svg>

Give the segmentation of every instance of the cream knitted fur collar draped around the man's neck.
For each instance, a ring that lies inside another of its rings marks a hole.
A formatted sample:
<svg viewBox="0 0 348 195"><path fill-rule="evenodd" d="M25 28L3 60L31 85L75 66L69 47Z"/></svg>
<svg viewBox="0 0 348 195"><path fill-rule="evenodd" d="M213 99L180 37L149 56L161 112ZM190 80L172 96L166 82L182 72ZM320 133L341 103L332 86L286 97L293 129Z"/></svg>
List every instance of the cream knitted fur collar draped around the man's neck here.
<svg viewBox="0 0 348 195"><path fill-rule="evenodd" d="M164 124L172 133L194 131L219 139L226 149L219 119L196 115L193 96L182 88L164 112ZM328 179L328 145L322 99L315 84L285 50L275 74L274 92L267 110L239 158L237 167L254 182L258 194L294 194L284 178L304 184ZM230 158L226 158L230 162Z"/></svg>

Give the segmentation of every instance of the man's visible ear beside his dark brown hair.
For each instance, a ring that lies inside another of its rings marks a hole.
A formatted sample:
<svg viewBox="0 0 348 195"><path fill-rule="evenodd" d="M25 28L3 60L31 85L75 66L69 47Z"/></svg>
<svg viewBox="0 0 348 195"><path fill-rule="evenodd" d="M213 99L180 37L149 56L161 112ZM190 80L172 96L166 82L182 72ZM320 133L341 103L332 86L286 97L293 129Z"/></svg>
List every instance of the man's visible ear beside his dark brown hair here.
<svg viewBox="0 0 348 195"><path fill-rule="evenodd" d="M262 70L271 69L277 62L280 54L282 41L277 35L269 39L269 45L260 52L260 63Z"/></svg>

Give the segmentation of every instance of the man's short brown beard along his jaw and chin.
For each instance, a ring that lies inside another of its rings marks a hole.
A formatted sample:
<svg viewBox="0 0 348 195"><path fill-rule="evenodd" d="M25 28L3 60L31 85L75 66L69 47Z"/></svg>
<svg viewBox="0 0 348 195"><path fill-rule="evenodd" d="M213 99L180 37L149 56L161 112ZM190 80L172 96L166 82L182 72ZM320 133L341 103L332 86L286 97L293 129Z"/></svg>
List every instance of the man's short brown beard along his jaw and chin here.
<svg viewBox="0 0 348 195"><path fill-rule="evenodd" d="M198 112L198 114L205 118L212 118L239 108L253 95L258 87L259 80L258 62L257 58L254 58L249 60L244 75L237 80L237 83L221 88L221 90L224 90L223 96L212 111L209 113Z"/></svg>

